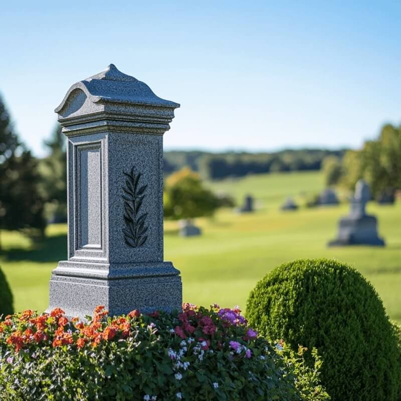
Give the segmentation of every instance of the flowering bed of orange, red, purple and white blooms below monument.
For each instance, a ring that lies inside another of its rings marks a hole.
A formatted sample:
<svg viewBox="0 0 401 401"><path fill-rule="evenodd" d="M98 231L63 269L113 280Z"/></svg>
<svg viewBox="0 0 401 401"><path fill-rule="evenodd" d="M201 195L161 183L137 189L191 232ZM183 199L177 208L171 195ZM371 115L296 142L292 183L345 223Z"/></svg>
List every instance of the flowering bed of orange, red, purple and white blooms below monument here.
<svg viewBox="0 0 401 401"><path fill-rule="evenodd" d="M320 361L304 363L284 343L247 326L239 308L184 304L182 312L87 321L56 308L0 323L0 393L5 400L319 401Z"/></svg>

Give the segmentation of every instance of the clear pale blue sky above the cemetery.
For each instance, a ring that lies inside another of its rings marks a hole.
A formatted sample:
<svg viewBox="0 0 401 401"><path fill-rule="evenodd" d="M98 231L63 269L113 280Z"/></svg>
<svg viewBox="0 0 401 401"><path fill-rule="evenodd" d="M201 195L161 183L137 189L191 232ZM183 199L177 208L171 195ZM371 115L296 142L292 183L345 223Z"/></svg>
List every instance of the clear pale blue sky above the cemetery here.
<svg viewBox="0 0 401 401"><path fill-rule="evenodd" d="M0 92L37 155L110 63L181 104L166 149L358 147L401 122L400 21L401 1L7 1Z"/></svg>

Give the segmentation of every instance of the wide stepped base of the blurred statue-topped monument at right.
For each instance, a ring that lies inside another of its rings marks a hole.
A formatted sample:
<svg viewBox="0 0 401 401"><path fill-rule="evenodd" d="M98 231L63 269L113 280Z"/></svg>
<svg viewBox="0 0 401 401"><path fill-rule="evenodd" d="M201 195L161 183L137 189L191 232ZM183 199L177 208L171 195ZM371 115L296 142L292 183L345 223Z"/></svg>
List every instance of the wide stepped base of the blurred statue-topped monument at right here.
<svg viewBox="0 0 401 401"><path fill-rule="evenodd" d="M377 220L374 216L347 216L339 222L338 236L328 243L329 247L346 245L384 246L377 235Z"/></svg>

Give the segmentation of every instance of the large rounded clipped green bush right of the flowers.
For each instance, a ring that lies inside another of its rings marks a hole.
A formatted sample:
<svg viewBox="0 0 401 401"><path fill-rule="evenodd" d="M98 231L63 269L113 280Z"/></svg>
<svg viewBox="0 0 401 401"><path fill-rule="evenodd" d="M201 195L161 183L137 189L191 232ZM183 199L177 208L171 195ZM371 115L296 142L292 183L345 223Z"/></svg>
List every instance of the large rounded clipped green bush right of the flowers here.
<svg viewBox="0 0 401 401"><path fill-rule="evenodd" d="M333 260L275 268L250 293L249 323L294 349L316 347L334 401L392 401L400 381L394 330L372 285Z"/></svg>

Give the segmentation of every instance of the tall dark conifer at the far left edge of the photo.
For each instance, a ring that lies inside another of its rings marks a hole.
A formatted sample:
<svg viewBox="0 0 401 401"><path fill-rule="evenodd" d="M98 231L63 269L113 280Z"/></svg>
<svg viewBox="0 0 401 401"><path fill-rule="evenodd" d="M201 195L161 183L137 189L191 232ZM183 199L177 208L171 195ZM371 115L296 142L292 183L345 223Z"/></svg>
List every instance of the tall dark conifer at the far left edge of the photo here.
<svg viewBox="0 0 401 401"><path fill-rule="evenodd" d="M0 177L0 229L23 230L43 238L46 221L38 161L18 140L1 97Z"/></svg>

